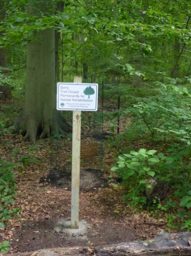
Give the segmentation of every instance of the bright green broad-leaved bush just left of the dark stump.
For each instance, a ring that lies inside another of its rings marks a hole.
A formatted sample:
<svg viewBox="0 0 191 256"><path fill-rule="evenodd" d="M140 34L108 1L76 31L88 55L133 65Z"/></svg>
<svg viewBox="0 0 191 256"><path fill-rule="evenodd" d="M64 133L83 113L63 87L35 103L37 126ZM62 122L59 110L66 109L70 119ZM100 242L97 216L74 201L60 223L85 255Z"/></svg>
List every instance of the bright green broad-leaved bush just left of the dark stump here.
<svg viewBox="0 0 191 256"><path fill-rule="evenodd" d="M131 151L130 154L123 154L118 157L117 166L111 168L115 174L122 178L124 186L130 189L125 195L125 200L130 201L133 206L138 203L145 204L147 198L142 192L147 188L152 188L149 181L159 174L158 165L166 160L158 154L156 150L140 149L138 152Z"/></svg>

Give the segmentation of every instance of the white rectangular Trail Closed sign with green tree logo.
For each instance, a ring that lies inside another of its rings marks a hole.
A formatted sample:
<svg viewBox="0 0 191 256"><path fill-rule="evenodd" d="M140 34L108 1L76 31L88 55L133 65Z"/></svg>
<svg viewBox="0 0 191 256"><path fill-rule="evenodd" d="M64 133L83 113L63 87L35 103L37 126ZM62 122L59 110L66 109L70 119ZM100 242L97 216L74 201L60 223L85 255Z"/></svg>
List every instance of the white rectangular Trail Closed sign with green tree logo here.
<svg viewBox="0 0 191 256"><path fill-rule="evenodd" d="M97 111L97 109L98 84L57 84L57 110Z"/></svg>

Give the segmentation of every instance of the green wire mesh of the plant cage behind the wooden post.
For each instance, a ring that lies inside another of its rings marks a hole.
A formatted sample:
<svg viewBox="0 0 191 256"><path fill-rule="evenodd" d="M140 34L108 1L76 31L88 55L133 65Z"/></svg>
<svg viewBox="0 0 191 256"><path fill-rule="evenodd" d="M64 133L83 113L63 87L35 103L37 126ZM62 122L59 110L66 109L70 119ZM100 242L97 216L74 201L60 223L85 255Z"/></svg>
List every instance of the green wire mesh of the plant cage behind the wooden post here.
<svg viewBox="0 0 191 256"><path fill-rule="evenodd" d="M98 111L82 111L80 167L101 173L103 170L103 87L99 88ZM72 124L72 111L61 111ZM62 138L55 134L51 143L50 170L71 172L72 134Z"/></svg>

